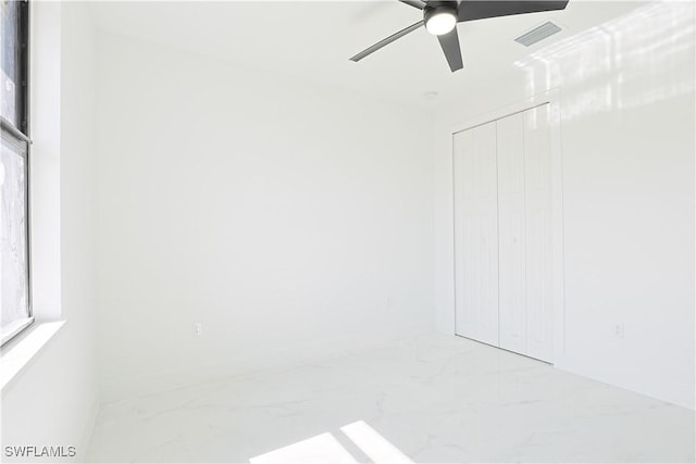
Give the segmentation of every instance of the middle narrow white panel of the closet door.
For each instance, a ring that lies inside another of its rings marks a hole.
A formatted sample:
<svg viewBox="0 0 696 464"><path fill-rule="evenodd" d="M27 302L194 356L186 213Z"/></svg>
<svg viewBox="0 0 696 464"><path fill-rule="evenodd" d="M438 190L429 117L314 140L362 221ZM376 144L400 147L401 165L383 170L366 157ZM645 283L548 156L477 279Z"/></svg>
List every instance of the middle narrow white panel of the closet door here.
<svg viewBox="0 0 696 464"><path fill-rule="evenodd" d="M498 120L500 347L526 353L524 117Z"/></svg>

